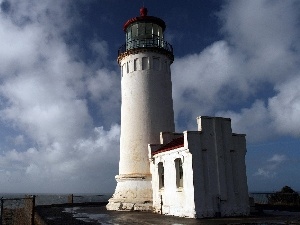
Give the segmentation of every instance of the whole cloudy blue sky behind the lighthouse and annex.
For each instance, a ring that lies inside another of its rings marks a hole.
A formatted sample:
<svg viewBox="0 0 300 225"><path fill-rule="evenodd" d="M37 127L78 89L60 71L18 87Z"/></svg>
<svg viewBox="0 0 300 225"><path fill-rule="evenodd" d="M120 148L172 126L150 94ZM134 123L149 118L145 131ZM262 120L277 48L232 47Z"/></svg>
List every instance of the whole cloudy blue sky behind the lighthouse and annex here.
<svg viewBox="0 0 300 225"><path fill-rule="evenodd" d="M0 193L113 193L123 24L166 22L176 131L230 117L250 192L300 191L300 1L0 0Z"/></svg>

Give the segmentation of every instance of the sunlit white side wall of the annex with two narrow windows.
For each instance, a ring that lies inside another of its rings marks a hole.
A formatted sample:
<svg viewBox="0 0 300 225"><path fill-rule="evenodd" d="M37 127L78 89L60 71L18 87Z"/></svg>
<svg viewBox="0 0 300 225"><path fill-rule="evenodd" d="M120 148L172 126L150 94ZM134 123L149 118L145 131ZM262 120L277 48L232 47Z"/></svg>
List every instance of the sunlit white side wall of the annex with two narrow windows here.
<svg viewBox="0 0 300 225"><path fill-rule="evenodd" d="M183 187L176 187L176 169L174 160L181 158L183 167ZM165 170L165 186L159 189L158 163L163 162ZM152 187L153 208L155 212L180 217L191 217L195 215L193 170L190 166L192 155L184 147L175 151L160 153L153 157Z"/></svg>

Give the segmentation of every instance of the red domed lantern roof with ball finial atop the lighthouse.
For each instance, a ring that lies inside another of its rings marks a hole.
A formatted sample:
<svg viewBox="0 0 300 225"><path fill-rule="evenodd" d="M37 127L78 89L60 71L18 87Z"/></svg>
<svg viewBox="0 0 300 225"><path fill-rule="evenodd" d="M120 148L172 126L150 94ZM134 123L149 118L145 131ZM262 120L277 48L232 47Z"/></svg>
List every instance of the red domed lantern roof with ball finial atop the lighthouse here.
<svg viewBox="0 0 300 225"><path fill-rule="evenodd" d="M155 23L155 24L159 25L163 31L166 29L166 24L162 19L154 17L154 16L148 16L147 13L148 13L147 8L142 7L140 9L140 16L129 19L124 24L123 30L126 31L127 27L134 22Z"/></svg>

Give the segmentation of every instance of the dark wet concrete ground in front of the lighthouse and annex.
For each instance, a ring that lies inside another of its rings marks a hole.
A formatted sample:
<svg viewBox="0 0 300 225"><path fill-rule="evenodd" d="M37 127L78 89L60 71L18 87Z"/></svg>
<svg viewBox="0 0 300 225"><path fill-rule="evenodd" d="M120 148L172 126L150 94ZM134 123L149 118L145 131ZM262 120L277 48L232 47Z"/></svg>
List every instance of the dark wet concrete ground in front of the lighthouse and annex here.
<svg viewBox="0 0 300 225"><path fill-rule="evenodd" d="M165 225L224 225L224 224L299 224L300 212L265 211L260 215L245 218L211 218L187 219L174 216L164 216L151 212L107 211L102 204L63 204L52 206L37 206L36 213L47 225L82 225L82 224L165 224Z"/></svg>

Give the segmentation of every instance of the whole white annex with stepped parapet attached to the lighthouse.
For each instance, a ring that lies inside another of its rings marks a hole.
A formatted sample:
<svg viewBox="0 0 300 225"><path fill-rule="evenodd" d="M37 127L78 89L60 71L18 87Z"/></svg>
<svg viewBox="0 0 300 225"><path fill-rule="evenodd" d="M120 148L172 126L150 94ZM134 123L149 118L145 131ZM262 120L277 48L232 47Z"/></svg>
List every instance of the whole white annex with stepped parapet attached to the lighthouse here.
<svg viewBox="0 0 300 225"><path fill-rule="evenodd" d="M198 131L161 133L149 145L155 212L202 218L249 214L246 139L231 120L198 117Z"/></svg>

